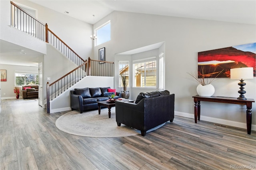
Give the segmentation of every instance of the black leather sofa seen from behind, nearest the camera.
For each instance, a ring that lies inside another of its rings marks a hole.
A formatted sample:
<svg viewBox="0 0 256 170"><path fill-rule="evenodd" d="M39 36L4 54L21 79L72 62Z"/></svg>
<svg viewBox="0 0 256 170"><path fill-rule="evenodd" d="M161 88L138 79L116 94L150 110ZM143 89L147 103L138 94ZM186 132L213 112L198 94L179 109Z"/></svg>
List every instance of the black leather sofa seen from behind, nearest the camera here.
<svg viewBox="0 0 256 170"><path fill-rule="evenodd" d="M174 119L174 94L168 90L142 92L135 103L116 101L116 123L146 131Z"/></svg>

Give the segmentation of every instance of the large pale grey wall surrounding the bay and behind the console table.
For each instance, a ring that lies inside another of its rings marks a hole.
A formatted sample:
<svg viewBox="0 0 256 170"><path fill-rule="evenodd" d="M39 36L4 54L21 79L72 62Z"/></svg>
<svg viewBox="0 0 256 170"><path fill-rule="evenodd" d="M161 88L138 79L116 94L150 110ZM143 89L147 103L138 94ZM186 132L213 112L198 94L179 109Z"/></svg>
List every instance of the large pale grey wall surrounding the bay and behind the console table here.
<svg viewBox="0 0 256 170"><path fill-rule="evenodd" d="M111 20L111 41L96 46L94 57L97 59L98 49L105 47L106 60L114 61L117 53L164 41L165 89L176 95L176 114L187 117L194 117L192 96L197 94L198 84L188 80L186 72L196 72L197 53L256 42L256 25L250 24L112 12L96 23L96 27L108 20ZM237 83L230 78L220 78L212 83L214 96L238 97ZM247 98L256 98L255 87L256 78L246 80ZM252 113L256 113L255 103ZM212 121L224 119L242 123L246 128L246 106L202 102L201 119L208 117ZM252 123L256 125L256 119L252 119Z"/></svg>

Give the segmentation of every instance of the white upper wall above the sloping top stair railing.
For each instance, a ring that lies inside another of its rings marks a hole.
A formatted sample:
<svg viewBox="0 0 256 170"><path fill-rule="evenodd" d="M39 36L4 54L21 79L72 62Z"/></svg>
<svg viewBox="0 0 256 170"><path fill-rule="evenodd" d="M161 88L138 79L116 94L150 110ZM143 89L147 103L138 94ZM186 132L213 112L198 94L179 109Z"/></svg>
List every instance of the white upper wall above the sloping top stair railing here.
<svg viewBox="0 0 256 170"><path fill-rule="evenodd" d="M18 0L18 3L36 9L38 11L37 19L42 23L47 23L48 28L84 60L92 56L92 40L90 39L93 29L92 24L77 20L28 0ZM65 11L65 9L63 10Z"/></svg>

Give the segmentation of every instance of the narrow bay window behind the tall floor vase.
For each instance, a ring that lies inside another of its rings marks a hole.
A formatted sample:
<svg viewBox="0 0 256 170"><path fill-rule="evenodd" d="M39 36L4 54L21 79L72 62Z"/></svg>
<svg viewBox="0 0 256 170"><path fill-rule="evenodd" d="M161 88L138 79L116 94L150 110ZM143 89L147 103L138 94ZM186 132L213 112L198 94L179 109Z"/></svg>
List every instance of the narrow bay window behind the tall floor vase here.
<svg viewBox="0 0 256 170"><path fill-rule="evenodd" d="M119 87L129 86L129 61L119 61Z"/></svg>

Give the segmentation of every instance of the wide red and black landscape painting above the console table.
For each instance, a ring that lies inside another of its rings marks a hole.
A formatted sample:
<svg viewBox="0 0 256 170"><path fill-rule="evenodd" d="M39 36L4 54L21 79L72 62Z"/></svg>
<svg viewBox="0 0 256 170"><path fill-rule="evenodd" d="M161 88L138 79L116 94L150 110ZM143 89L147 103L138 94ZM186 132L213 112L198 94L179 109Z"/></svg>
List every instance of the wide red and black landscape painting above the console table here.
<svg viewBox="0 0 256 170"><path fill-rule="evenodd" d="M253 67L256 76L256 43L198 52L198 77L230 77L230 68L240 67Z"/></svg>

